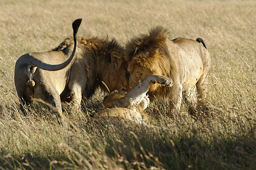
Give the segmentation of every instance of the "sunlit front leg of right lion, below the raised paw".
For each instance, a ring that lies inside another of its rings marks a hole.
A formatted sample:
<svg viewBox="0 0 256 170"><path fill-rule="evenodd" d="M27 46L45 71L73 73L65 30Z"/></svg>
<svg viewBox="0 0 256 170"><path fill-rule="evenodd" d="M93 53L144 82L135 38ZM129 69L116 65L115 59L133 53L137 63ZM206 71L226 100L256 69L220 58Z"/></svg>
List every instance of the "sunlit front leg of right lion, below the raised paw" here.
<svg viewBox="0 0 256 170"><path fill-rule="evenodd" d="M170 114L180 111L181 99L182 99L182 85L174 83L170 89ZM170 115L171 116L171 115Z"/></svg>

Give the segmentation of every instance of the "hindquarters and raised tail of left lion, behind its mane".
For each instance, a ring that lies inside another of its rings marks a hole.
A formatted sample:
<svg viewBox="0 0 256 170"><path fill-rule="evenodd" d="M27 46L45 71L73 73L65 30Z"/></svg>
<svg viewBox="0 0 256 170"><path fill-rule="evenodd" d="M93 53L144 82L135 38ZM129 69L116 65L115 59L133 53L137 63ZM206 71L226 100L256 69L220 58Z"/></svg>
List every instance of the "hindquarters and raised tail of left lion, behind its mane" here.
<svg viewBox="0 0 256 170"><path fill-rule="evenodd" d="M65 52L67 49L65 49L63 51L27 53L16 61L14 83L17 95L23 104L31 105L32 98L38 97L56 108L54 113L62 112L59 95L69 79L71 66L69 64L74 61L77 49L76 34L81 21L82 19L78 19L72 23L75 45L69 58L68 53ZM67 58L68 60L66 60ZM46 62L53 65L46 64ZM20 108L24 112L21 104Z"/></svg>

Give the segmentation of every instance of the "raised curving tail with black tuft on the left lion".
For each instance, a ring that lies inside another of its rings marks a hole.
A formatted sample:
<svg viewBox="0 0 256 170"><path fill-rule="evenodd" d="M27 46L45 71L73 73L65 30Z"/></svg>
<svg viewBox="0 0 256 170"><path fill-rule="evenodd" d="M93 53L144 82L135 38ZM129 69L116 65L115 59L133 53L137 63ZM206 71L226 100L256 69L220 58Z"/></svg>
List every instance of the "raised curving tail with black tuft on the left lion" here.
<svg viewBox="0 0 256 170"><path fill-rule="evenodd" d="M42 70L47 70L47 71L58 71L58 70L62 70L66 66L68 66L70 64L70 62L74 59L74 56L75 56L75 53L76 53L76 48L77 48L76 34L77 34L77 31L78 31L78 28L79 28L81 22L82 22L82 18L77 19L72 23L72 28L73 28L73 31L74 31L74 34L73 34L74 35L74 49L73 49L72 54L70 55L68 60L66 60L62 64L50 65L50 64L46 64L45 62L42 62L38 59L31 58L31 60L29 61L31 66L32 67L39 67Z"/></svg>

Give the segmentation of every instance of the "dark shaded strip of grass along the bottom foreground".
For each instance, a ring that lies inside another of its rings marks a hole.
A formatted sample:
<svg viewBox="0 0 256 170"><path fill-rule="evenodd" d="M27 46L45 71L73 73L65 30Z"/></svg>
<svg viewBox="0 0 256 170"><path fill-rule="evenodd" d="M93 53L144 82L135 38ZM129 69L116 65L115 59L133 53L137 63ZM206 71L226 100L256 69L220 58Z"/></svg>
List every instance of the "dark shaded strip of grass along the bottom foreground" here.
<svg viewBox="0 0 256 170"><path fill-rule="evenodd" d="M255 128L229 134L181 124L122 128L103 125L80 147L62 146L62 155L1 156L4 169L255 169ZM179 130L180 128L180 130ZM209 128L210 129L210 128ZM85 129L87 130L87 129ZM88 147L89 146L89 147ZM50 166L51 165L51 166ZM15 168L16 167L16 168ZM108 167L108 168L107 168Z"/></svg>

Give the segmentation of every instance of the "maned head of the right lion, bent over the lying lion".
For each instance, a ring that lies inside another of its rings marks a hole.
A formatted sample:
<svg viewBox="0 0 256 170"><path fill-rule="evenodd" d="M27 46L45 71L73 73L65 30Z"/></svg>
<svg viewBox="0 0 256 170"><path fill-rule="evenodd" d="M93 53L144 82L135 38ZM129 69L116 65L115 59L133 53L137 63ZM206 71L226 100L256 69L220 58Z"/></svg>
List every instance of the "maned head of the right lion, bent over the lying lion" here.
<svg viewBox="0 0 256 170"><path fill-rule="evenodd" d="M125 58L129 61L129 89L149 74L169 76L167 31L162 27L151 29L149 35L141 34L126 44ZM163 56L163 57L162 57ZM153 84L149 91L155 91L159 84Z"/></svg>

